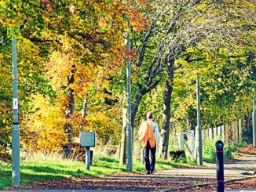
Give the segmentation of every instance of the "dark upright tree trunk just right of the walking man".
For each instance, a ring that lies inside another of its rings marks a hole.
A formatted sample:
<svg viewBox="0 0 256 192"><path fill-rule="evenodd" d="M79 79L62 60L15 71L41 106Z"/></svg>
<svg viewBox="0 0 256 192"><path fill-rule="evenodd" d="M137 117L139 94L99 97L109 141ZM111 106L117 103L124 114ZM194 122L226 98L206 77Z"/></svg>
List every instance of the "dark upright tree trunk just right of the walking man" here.
<svg viewBox="0 0 256 192"><path fill-rule="evenodd" d="M160 144L160 157L168 158L168 146L170 135L170 103L171 93L173 91L172 82L174 82L174 60L170 60L170 63L166 67L167 79L166 79L166 91L163 101L163 125L161 129L161 144Z"/></svg>

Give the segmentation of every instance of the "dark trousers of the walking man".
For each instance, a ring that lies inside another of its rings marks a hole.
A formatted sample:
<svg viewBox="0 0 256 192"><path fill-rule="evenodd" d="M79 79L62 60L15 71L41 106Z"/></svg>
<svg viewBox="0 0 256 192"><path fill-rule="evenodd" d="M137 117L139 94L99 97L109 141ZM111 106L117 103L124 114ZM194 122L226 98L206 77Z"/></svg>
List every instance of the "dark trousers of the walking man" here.
<svg viewBox="0 0 256 192"><path fill-rule="evenodd" d="M147 142L147 146L144 147L144 161L148 172L153 172L155 170L155 149L156 147L150 147L149 141ZM149 161L149 150L151 154L151 162Z"/></svg>

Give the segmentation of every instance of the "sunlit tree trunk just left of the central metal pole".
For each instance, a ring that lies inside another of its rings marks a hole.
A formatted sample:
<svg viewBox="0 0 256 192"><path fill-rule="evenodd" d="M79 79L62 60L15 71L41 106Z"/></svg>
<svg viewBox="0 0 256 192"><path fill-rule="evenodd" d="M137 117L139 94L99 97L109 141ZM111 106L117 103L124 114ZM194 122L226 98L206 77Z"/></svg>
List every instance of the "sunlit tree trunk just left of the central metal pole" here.
<svg viewBox="0 0 256 192"><path fill-rule="evenodd" d="M126 165L126 129L127 129L127 106L126 106L126 92L124 92L123 98L123 129L122 129L122 136L121 136L121 146L120 146L120 159L119 163L121 165Z"/></svg>

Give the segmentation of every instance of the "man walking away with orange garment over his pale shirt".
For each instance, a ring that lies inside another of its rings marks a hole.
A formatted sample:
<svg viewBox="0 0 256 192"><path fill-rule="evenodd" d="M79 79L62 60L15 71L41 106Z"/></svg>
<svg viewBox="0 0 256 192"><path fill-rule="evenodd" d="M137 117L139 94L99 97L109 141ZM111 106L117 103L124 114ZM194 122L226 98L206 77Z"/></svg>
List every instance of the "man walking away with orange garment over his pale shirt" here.
<svg viewBox="0 0 256 192"><path fill-rule="evenodd" d="M155 172L155 150L159 147L160 134L158 125L152 121L152 112L147 113L147 120L141 123L139 129L139 140L144 147L144 162L147 174L153 174ZM150 158L149 159L149 151Z"/></svg>

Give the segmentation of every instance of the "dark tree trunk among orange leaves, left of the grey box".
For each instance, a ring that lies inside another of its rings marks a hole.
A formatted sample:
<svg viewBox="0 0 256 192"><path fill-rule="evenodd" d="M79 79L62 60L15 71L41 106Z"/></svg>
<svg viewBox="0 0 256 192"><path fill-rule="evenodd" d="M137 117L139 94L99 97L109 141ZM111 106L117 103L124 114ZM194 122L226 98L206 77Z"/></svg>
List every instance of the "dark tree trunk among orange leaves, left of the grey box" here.
<svg viewBox="0 0 256 192"><path fill-rule="evenodd" d="M72 69L72 75L68 76L68 86L73 84L75 82L74 72L75 72L75 66L73 66ZM68 106L66 110L66 118L68 121L71 121L71 119L74 116L75 111L75 98L74 98L74 90L71 88L68 88ZM74 125L71 122L68 122L67 125L65 125L65 133L68 136L68 145L65 150L65 154L68 157L71 154L71 148L73 145L73 129Z"/></svg>

